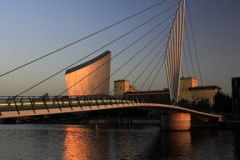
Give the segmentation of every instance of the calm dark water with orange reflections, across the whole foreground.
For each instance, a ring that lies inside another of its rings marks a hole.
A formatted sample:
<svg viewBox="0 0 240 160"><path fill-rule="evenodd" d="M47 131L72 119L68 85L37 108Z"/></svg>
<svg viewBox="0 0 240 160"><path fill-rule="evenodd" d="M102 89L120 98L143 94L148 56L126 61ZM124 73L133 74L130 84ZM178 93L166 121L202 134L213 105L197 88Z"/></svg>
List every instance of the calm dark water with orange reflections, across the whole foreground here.
<svg viewBox="0 0 240 160"><path fill-rule="evenodd" d="M0 125L3 160L240 159L240 130Z"/></svg>

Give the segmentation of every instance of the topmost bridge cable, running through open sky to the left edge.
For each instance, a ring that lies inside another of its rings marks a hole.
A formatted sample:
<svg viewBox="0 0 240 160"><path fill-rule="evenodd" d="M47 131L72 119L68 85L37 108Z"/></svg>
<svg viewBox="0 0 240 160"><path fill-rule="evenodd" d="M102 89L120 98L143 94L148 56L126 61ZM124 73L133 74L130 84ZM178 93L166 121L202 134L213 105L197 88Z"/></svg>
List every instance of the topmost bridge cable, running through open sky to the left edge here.
<svg viewBox="0 0 240 160"><path fill-rule="evenodd" d="M75 41L75 42L73 42L73 43L70 43L70 44L68 44L68 45L66 45L66 46L64 46L64 47L62 47L62 48L60 48L60 49L57 49L57 50L55 50L55 51L53 51L53 52L51 52L51 53L48 53L48 54L46 54L46 55L44 55L44 56L42 56L42 57L39 57L39 58L37 58L37 59L35 59L35 60L33 60L33 61L30 61L30 62L28 62L28 63L26 63L26 64L23 64L23 65L15 68L15 69L12 69L12 70L4 73L4 74L1 74L0 77L2 77L2 76L4 76L4 75L7 75L7 74L9 74L9 73L11 73L11 72L13 72L13 71L16 71L16 70L18 70L18 69L20 69L20 68L22 68L22 67L25 67L25 66L27 66L27 65L29 65L29 64L31 64L31 63L33 63L33 62L36 62L36 61L38 61L38 60L40 60L40 59L42 59L42 58L45 58L45 57L47 57L47 56L49 56L49 55L51 55L51 54L53 54L53 53L56 53L56 52L58 52L58 51L60 51L60 50L63 50L63 49L65 49L65 48L69 47L69 46L72 46L73 44L76 44L76 43L78 43L78 42L80 42L80 41L82 41L82 40L85 40L85 39L87 39L87 38L89 38L89 37L91 37L91 36L93 36L93 35L95 35L95 34L98 34L98 33L102 32L102 31L104 31L104 30L106 30L106 29L109 29L109 28L111 28L111 27L113 27L113 26L115 26L115 25L117 25L117 24L119 24L119 23L122 23L122 22L124 22L124 21L126 21L126 20L128 20L128 19L130 19L130 18L132 18L132 17L134 17L134 16L136 16L136 15L138 15L138 14L141 14L141 13L143 13L143 12L145 12L145 11L147 11L147 10L149 10L149 9L151 9L151 8L157 6L157 5L159 5L159 4L161 4L161 3L165 2L165 1L166 1L166 0L161 1L161 2L159 2L159 3L157 3L157 4L153 5L153 6L151 6L151 7L149 7L149 8L147 8L147 9L145 9L145 10L142 10L142 11L140 11L140 12L138 12L138 13L130 16L130 17L127 17L127 18L125 18L125 19L123 19L123 20L121 20L121 21L119 21L119 22L117 22L117 23L114 23L114 24L112 24L112 25L110 25L110 26L108 26L108 27L106 27L106 28L104 28L104 29L101 29L101 30L99 30L99 31L97 31L97 32L95 32L95 33L93 33L93 34L90 34L90 35L88 35L88 36L86 36L86 37L84 37L84 38L82 38L82 39L79 39L79 40L77 40L77 41Z"/></svg>

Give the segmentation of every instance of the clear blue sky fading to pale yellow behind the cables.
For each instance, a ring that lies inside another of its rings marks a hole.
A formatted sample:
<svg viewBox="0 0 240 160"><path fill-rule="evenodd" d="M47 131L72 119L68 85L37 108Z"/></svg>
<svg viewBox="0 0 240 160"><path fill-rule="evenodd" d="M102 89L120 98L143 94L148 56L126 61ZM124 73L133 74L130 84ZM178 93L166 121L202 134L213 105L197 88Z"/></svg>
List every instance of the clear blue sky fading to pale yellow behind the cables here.
<svg viewBox="0 0 240 160"><path fill-rule="evenodd" d="M14 69L31 60L57 50L78 39L88 36L139 11L142 11L161 0L0 0L0 74ZM95 36L81 41L71 47L57 52L36 63L0 77L0 96L13 96L44 80L59 70L80 60L107 43L134 29L155 15L163 12L179 0L167 0L134 18L107 29ZM222 91L231 94L231 78L240 77L240 1L239 0L188 0L193 31L196 41L203 85L218 85ZM149 30L171 16L176 6L168 10L150 23L96 52L78 64L103 53L112 52L117 55L128 45L143 36ZM186 12L187 13L187 12ZM173 17L164 22L156 30L141 39L138 43L112 60L111 73L136 54L142 47L164 30ZM192 41L188 14L186 25L190 39L191 52L196 78L199 80L196 54ZM154 46L169 33L166 29L155 41L140 52L132 61L111 77L110 90L113 81L124 77L143 59ZM149 62L154 58L163 41L128 78L133 83ZM189 74L193 71L187 48L186 36L184 44L187 54ZM140 89L155 64L161 52L148 67L146 72L134 84ZM162 61L149 77L142 90L148 90ZM183 59L184 76L187 76L186 63ZM200 80L199 80L200 84ZM166 72L163 66L151 90L167 88ZM24 95L57 95L66 89L65 72L44 82ZM66 95L67 93L65 93Z"/></svg>

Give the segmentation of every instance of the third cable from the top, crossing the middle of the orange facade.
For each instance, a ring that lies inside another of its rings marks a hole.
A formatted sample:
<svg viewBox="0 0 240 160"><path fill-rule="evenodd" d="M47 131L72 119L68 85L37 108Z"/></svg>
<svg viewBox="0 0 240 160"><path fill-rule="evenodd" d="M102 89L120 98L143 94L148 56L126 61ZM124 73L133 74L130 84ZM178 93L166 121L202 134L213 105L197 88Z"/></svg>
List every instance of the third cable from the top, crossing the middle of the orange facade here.
<svg viewBox="0 0 240 160"><path fill-rule="evenodd" d="M163 23L163 22L162 22ZM81 82L82 80L84 80L86 77L88 77L89 75L91 75L93 72L95 72L96 70L98 70L99 68L101 68L103 65L105 65L106 63L108 63L109 61L111 61L112 59L116 58L119 54L121 54L122 52L124 52L125 50L127 50L129 47L131 47L132 45L134 45L135 43L137 43L139 40L141 40L143 37L145 37L146 35L148 35L150 32L152 32L154 29L156 29L158 26L160 26L162 23L158 24L156 27L154 27L153 29L151 29L149 32L147 32L146 34L144 34L142 37L140 37L139 39L137 39L135 42L133 42L132 44L130 44L128 47L126 47L125 49L123 49L121 52L119 52L117 55L115 55L113 58L111 58L110 60L108 60L107 62L105 62L104 64L102 64L100 67L96 68L94 71L92 71L91 73L89 73L88 75L86 75L84 78L82 78L81 80L79 80L78 82L76 82L75 84L73 84L71 87L67 88L66 90L64 90L62 93L60 93L58 96L62 95L63 93L65 93L66 91L68 91L69 89L71 89L73 86L75 86L76 84L78 84L79 82ZM164 30L166 30L169 26L167 26ZM164 31L163 30L163 31ZM162 31L162 32L163 32ZM162 33L161 32L161 33ZM161 34L160 33L160 34ZM159 35L160 35L159 34ZM159 36L157 35L157 36ZM157 36L154 38L156 39Z"/></svg>

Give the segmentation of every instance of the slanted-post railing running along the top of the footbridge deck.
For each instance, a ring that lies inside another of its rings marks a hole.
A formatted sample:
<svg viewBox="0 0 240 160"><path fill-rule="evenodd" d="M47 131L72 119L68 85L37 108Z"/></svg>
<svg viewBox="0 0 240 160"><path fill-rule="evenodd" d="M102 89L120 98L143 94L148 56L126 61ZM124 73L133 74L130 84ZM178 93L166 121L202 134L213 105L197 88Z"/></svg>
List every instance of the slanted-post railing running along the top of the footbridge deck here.
<svg viewBox="0 0 240 160"><path fill-rule="evenodd" d="M92 106L99 107L100 105L129 105L129 104L166 104L169 105L170 102L145 102L143 99L132 99L125 100L122 96L114 97L112 95L91 95L91 96L21 96L21 97L10 97L1 96L0 97L0 111L17 111L20 114L20 110L35 110L47 109L49 112L50 108L71 108L80 107L82 110L84 107L92 108ZM176 105L178 106L178 105ZM196 106L178 106L181 108L187 108L195 111L200 111L209 114L223 115L220 112L214 112L213 110L208 110L204 108L199 108ZM1 115L1 112L0 112Z"/></svg>

